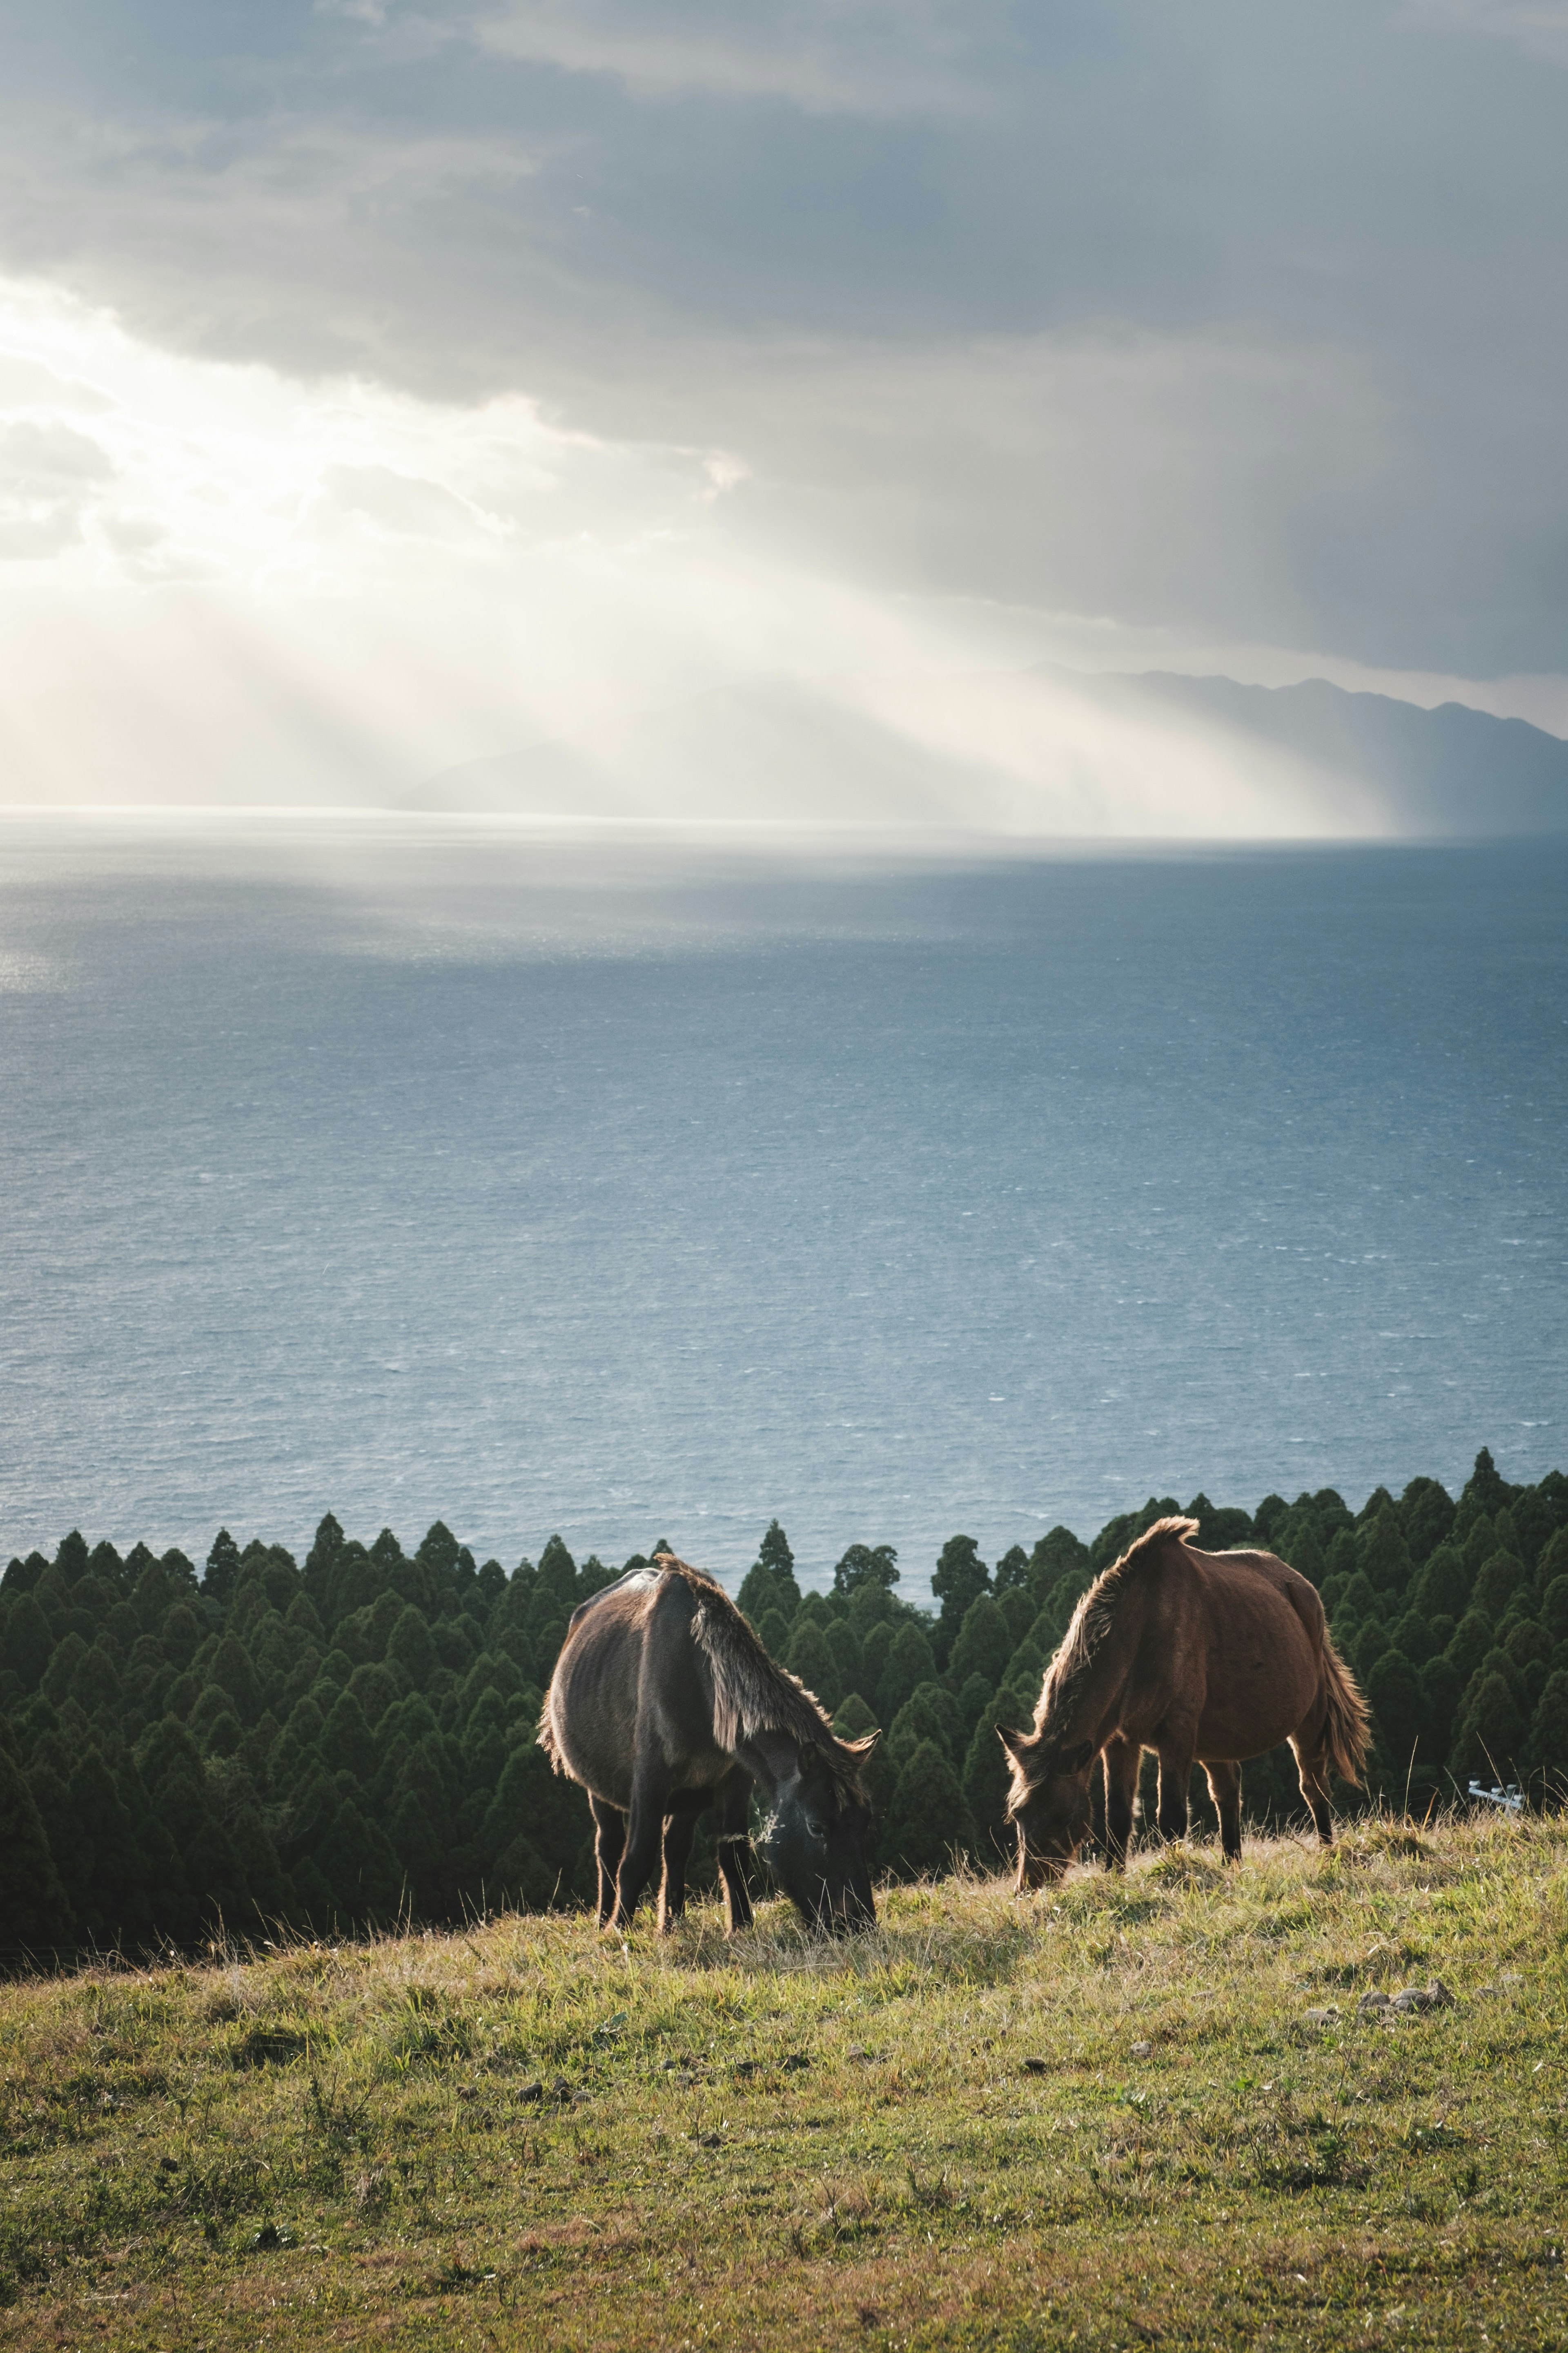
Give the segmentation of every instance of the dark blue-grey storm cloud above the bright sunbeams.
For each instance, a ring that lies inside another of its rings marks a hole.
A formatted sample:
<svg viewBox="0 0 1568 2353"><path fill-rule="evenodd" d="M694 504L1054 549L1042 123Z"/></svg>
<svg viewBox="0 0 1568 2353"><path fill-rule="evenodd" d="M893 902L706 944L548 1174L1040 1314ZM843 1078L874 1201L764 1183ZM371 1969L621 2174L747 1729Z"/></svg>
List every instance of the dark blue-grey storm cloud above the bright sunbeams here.
<svg viewBox="0 0 1568 2353"><path fill-rule="evenodd" d="M731 447L750 527L1455 671L1568 619L1563 12L38 12L12 268Z"/></svg>

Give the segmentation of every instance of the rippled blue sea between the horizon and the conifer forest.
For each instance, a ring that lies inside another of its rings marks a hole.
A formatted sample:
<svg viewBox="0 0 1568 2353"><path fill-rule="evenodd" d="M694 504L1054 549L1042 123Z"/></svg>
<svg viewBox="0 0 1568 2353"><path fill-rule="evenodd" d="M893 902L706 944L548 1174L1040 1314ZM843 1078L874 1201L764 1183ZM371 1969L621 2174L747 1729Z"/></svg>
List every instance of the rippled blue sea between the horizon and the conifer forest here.
<svg viewBox="0 0 1568 2353"><path fill-rule="evenodd" d="M1568 1468L1568 847L0 819L0 1558Z"/></svg>

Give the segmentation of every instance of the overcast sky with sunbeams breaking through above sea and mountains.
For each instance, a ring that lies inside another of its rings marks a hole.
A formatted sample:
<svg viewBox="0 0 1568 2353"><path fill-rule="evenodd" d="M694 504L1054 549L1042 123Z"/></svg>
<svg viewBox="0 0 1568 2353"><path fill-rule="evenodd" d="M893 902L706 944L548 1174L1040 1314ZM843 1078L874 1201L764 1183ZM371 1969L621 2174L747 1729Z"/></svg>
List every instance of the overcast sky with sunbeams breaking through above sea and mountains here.
<svg viewBox="0 0 1568 2353"><path fill-rule="evenodd" d="M731 678L1039 656L1568 732L1563 0L2 42L12 800L376 798Z"/></svg>

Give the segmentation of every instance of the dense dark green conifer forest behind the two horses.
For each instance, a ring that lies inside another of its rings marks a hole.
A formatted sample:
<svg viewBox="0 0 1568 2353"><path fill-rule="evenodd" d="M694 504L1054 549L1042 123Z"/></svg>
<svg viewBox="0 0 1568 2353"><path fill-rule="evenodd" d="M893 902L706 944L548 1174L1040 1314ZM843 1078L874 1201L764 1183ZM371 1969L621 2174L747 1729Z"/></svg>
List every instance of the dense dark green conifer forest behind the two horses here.
<svg viewBox="0 0 1568 2353"><path fill-rule="evenodd" d="M1025 1725L1074 1602L1161 1513L1199 1544L1265 1544L1321 1588L1373 1704L1371 1791L1425 1809L1472 1777L1568 1777L1568 1480L1512 1487L1490 1454L1465 1492L1413 1480L1359 1513L1333 1492L1258 1513L1150 1497L1093 1544L1053 1527L987 1565L952 1537L936 1609L898 1595L891 1546L853 1544L802 1591L773 1522L738 1600L844 1734L884 1727L877 1864L1001 1861L997 1725ZM663 1551L665 1546L656 1546ZM632 1555L625 1567L642 1565ZM583 1793L534 1744L571 1609L618 1569L559 1537L508 1572L435 1525L327 1515L299 1565L221 1532L183 1553L12 1560L0 1581L0 1948L7 1958L195 1944L219 1920L334 1932L454 1922L592 1894ZM1260 1821L1305 1819L1288 1751L1246 1772ZM703 1842L696 1871L712 1861Z"/></svg>

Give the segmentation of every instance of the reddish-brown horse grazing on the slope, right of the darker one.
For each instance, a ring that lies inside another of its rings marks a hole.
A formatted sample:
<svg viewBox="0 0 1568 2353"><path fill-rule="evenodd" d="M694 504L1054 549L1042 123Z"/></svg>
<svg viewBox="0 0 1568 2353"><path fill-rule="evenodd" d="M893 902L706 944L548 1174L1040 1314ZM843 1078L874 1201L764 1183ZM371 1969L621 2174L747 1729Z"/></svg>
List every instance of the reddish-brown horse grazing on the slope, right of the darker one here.
<svg viewBox="0 0 1568 2353"><path fill-rule="evenodd" d="M1001 1734L1020 1894L1060 1878L1084 1845L1095 1758L1107 1861L1126 1864L1145 1748L1159 1755L1161 1838L1187 1835L1197 1760L1225 1861L1239 1861L1241 1765L1288 1739L1316 1835L1333 1840L1328 1769L1359 1777L1371 1720L1316 1588L1272 1553L1199 1553L1194 1534L1197 1520L1157 1520L1093 1581L1046 1668L1034 1729Z"/></svg>

